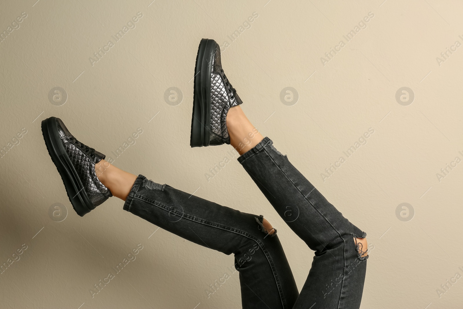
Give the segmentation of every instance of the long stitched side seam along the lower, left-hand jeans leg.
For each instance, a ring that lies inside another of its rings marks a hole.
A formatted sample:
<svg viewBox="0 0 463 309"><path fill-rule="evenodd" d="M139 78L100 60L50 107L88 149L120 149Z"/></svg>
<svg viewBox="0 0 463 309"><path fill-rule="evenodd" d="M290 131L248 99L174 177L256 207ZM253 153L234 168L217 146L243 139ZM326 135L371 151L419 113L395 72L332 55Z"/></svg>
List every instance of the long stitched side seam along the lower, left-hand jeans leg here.
<svg viewBox="0 0 463 309"><path fill-rule="evenodd" d="M130 194L129 194L130 195ZM133 193L132 194L132 200L134 198L140 200L140 201L143 201L143 202L147 202L153 206L156 206L158 208L161 208L165 211L169 211L171 212L172 210L168 210L166 209L166 205L162 204L162 203L158 203L158 202L155 202L155 201L152 201L152 200L149 200L147 198L145 198L144 196L142 195L139 195L137 193ZM132 200L130 201L130 204L132 202ZM130 209L130 208L129 208ZM174 211L175 213L177 213L177 211ZM232 232L232 233L236 233L236 234L239 234L239 235L242 235L250 240L254 240L262 249L262 251L264 252L265 254L265 257L267 258L267 261L269 262L269 265L270 265L270 268L272 269L272 273L273 273L273 277L275 278L275 284L278 288L278 292L280 294L280 299L282 301L282 305L283 305L283 308L288 308L287 307L287 302L286 302L286 299L284 298L283 294L282 294L282 286L281 286L281 283L280 283L280 280L278 278L278 276L276 275L275 273L275 266L274 266L274 263L273 263L273 260L270 259L270 256L269 256L269 252L267 251L267 249L265 249L263 243L261 243L259 240L257 240L254 236L250 235L249 233L246 233L244 231L241 231L241 230L238 230L236 228L232 228L232 227L227 227L225 225L217 225L217 224L213 224L212 222L209 222L209 221L199 221L198 218L196 218L195 216L192 216L192 215L187 215L185 216L185 214L182 215L182 218L185 218L187 220L190 220L190 221L194 221L194 222L197 222L197 223L200 223L200 224L204 224L204 225L207 225L207 226L210 226L210 227L216 227L216 228L219 228L221 230L225 230L225 231L228 231L228 232ZM226 227L226 228L224 228ZM227 229L228 228L228 229Z"/></svg>

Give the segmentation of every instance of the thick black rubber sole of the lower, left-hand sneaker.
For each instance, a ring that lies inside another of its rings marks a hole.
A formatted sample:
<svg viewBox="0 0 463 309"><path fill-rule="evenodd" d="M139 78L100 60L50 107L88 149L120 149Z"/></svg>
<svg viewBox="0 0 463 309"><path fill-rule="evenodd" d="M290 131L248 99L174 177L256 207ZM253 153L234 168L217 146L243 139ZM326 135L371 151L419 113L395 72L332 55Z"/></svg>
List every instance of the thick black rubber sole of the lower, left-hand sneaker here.
<svg viewBox="0 0 463 309"><path fill-rule="evenodd" d="M95 209L95 207L85 189L83 189L79 175L64 150L56 126L56 117L50 117L42 121L42 134L44 135L48 154L63 180L69 202L71 202L75 212L82 217L84 214L89 213L90 210Z"/></svg>

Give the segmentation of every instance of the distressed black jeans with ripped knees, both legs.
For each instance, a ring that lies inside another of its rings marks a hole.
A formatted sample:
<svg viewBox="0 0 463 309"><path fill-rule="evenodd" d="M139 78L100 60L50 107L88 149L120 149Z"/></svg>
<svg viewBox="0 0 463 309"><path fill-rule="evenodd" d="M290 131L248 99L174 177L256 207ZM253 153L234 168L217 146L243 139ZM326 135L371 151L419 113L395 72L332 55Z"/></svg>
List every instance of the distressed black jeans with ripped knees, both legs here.
<svg viewBox="0 0 463 309"><path fill-rule="evenodd" d="M124 209L198 245L233 253L245 309L359 308L367 257L359 254L354 237L366 234L345 219L268 137L238 161L288 226L315 251L300 293L278 236L263 227L263 216L218 205L142 175ZM231 275L215 280L207 296Z"/></svg>

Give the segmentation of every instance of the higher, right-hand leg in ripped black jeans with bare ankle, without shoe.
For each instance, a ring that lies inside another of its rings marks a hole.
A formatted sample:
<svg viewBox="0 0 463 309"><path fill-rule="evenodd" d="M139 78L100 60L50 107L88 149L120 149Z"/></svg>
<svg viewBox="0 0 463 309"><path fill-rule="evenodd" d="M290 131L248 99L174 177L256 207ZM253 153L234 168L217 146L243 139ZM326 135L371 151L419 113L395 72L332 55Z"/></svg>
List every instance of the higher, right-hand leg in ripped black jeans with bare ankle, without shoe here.
<svg viewBox="0 0 463 309"><path fill-rule="evenodd" d="M241 154L238 161L288 226L315 251L294 308L359 308L368 258L366 233L263 138L239 106L230 108L226 125L231 145Z"/></svg>

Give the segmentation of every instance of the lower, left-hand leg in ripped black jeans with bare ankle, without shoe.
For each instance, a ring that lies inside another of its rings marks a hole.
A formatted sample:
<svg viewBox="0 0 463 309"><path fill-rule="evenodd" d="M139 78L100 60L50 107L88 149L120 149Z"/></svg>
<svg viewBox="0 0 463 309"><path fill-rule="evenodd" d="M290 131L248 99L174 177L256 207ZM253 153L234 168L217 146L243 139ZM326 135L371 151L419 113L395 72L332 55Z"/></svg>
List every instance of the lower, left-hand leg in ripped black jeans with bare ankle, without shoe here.
<svg viewBox="0 0 463 309"><path fill-rule="evenodd" d="M124 209L198 245L233 253L243 308L293 308L299 295L276 230L263 216L206 201L119 170L101 160L95 173ZM232 275L210 287L211 296Z"/></svg>

